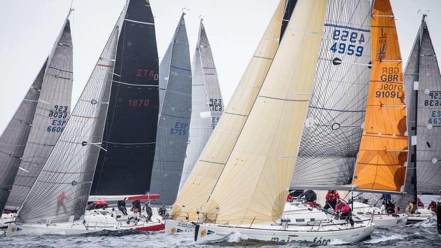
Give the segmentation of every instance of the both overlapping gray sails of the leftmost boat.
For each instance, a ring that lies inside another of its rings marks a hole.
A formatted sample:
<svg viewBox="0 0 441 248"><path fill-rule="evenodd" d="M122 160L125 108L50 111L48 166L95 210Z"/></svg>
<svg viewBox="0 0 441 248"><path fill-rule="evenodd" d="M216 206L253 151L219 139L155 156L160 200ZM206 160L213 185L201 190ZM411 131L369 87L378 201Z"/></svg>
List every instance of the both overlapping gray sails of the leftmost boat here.
<svg viewBox="0 0 441 248"><path fill-rule="evenodd" d="M15 211L21 206L69 120L72 11L69 10L49 57L0 137L0 216L4 209Z"/></svg>

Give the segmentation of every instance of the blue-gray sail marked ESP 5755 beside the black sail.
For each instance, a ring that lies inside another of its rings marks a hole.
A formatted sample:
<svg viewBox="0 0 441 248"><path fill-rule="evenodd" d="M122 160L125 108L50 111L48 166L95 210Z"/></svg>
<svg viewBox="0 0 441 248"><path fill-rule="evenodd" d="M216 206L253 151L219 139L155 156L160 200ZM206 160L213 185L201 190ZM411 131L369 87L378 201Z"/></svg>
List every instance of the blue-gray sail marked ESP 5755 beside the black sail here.
<svg viewBox="0 0 441 248"><path fill-rule="evenodd" d="M176 199L190 124L191 67L184 14L171 44L168 82L160 110L150 181L150 192L161 195L156 203L165 205L173 204Z"/></svg>

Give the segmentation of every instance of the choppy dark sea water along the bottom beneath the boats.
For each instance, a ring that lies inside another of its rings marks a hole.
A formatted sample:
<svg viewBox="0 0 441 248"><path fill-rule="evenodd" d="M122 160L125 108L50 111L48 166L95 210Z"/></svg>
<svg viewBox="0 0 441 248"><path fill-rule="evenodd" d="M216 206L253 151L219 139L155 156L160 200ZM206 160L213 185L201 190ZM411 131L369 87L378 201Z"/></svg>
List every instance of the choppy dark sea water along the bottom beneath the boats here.
<svg viewBox="0 0 441 248"><path fill-rule="evenodd" d="M162 232L102 231L84 235L41 235L0 237L0 247L21 248L105 248L105 247L316 247L311 242L259 242L244 241L239 233L226 242L195 244L192 232L167 234ZM376 227L373 234L363 241L345 244L334 243L329 247L441 247L441 235L436 231L436 219L400 227Z"/></svg>

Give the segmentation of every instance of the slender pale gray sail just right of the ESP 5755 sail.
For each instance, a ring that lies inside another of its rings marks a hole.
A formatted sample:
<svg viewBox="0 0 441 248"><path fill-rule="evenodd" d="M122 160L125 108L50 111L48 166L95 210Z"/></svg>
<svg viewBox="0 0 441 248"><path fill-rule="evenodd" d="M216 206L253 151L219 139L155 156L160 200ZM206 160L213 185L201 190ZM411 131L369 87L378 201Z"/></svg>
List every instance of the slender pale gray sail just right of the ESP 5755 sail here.
<svg viewBox="0 0 441 248"><path fill-rule="evenodd" d="M199 26L199 35L196 43L196 51L194 52L193 56L191 73L191 120L188 134L187 151L185 155L184 166L182 169L182 176L179 183L179 191L187 181L187 178L190 175L194 164L199 158L200 153L205 147L205 144L211 135L213 126L215 125L214 123L212 123L213 119L211 117L210 109L213 108L208 105L207 90L205 86L206 82L203 73L204 69L201 62L201 51L199 43L202 35L202 28L203 25L201 20ZM205 32L203 34L205 34ZM217 83L217 81L214 83Z"/></svg>

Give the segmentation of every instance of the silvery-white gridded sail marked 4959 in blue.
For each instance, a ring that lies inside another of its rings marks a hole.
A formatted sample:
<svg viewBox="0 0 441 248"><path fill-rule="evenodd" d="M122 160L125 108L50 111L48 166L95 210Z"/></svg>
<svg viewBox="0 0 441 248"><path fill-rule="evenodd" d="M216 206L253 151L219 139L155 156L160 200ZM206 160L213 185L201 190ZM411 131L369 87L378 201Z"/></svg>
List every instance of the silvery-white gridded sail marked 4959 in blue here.
<svg viewBox="0 0 441 248"><path fill-rule="evenodd" d="M328 1L292 187L352 182L369 88L370 11L370 1Z"/></svg>

